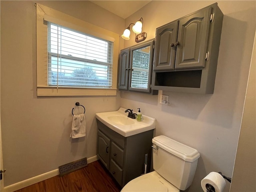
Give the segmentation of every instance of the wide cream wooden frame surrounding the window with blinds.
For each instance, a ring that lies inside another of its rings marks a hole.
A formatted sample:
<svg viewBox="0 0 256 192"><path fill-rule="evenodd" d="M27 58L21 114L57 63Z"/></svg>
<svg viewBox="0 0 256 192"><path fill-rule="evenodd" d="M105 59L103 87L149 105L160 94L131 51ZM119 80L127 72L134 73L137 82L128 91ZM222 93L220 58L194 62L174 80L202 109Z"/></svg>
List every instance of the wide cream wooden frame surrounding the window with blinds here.
<svg viewBox="0 0 256 192"><path fill-rule="evenodd" d="M48 22L114 42L111 88L48 86ZM37 3L36 42L37 96L116 96L119 51L118 34Z"/></svg>

